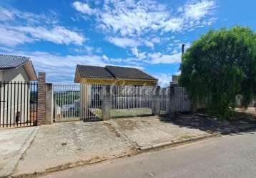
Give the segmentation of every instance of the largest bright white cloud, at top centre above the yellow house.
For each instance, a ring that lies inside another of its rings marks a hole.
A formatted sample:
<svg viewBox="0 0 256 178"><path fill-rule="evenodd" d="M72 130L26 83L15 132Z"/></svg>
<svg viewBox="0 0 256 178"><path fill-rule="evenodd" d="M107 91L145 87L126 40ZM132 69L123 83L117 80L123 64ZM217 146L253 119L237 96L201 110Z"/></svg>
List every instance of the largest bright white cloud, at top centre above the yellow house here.
<svg viewBox="0 0 256 178"><path fill-rule="evenodd" d="M104 0L94 9L76 1L73 6L83 14L95 15L96 26L110 43L122 48L147 46L151 50L170 33L173 37L209 26L216 20L212 15L217 7L216 0L187 0L178 9L154 0ZM154 38L157 33L160 36Z"/></svg>

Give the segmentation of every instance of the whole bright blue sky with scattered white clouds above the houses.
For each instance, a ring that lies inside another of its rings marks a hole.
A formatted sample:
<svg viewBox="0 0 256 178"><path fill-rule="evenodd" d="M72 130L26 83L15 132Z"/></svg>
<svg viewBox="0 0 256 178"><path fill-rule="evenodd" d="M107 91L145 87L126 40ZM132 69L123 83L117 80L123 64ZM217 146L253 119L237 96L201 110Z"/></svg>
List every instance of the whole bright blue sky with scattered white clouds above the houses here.
<svg viewBox="0 0 256 178"><path fill-rule="evenodd" d="M132 66L167 85L181 44L210 29L256 29L256 1L1 0L0 53L28 56L49 82L73 82L77 64Z"/></svg>

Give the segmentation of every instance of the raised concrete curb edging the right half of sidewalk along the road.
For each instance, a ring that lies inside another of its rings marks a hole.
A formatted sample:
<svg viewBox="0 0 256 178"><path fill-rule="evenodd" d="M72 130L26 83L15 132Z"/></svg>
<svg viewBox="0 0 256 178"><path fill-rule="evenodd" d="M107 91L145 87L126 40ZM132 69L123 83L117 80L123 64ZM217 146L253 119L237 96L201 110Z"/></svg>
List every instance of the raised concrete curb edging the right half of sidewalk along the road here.
<svg viewBox="0 0 256 178"><path fill-rule="evenodd" d="M217 136L220 136L220 135L221 135L220 133L214 133L214 134L210 134L210 135L200 135L200 136L197 136L197 137L192 137L192 138L184 139L184 140L177 141L177 142L176 141L162 142L162 143L158 143L158 144L155 144L155 145L138 147L137 149L139 150L139 152L145 152L145 151L149 151L149 150L155 150L155 149L158 149L158 148L161 148L161 147L176 147L178 145L184 145L184 144L187 144L189 142L197 142L197 141L200 141L200 140L205 140L207 138L217 137Z"/></svg>

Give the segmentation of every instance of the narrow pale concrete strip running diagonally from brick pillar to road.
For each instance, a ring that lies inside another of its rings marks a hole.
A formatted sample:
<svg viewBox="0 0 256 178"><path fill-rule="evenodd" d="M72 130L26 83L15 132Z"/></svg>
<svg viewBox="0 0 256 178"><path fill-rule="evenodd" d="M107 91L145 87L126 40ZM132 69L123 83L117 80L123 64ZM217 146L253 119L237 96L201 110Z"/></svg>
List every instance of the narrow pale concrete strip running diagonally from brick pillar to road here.
<svg viewBox="0 0 256 178"><path fill-rule="evenodd" d="M32 140L34 139L34 136L36 135L36 132L39 130L39 127L36 127L34 129L33 132L31 132L31 135L29 135L29 138L26 140L26 142L24 143L24 145L21 147L21 149L19 150L19 152L17 152L17 154L11 159L10 162L8 162L8 164L5 165L5 167L11 167L11 169L9 169L5 174L6 176L4 177L9 177L11 175L12 172L14 172L14 169L16 168L16 165L19 162L19 159L21 159L21 156L24 154L24 152L26 151L26 149L29 147L30 143L32 142Z"/></svg>

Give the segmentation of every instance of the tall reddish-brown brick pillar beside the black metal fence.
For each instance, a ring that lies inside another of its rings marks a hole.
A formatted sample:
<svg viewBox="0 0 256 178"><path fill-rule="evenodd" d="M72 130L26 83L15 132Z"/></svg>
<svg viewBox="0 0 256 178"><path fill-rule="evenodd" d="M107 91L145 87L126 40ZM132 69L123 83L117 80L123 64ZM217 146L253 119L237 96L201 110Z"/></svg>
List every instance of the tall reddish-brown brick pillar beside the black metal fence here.
<svg viewBox="0 0 256 178"><path fill-rule="evenodd" d="M38 75L37 125L46 125L46 83L45 73Z"/></svg>

